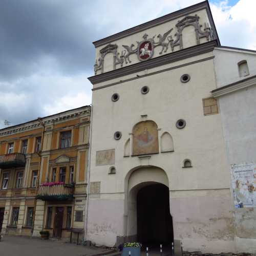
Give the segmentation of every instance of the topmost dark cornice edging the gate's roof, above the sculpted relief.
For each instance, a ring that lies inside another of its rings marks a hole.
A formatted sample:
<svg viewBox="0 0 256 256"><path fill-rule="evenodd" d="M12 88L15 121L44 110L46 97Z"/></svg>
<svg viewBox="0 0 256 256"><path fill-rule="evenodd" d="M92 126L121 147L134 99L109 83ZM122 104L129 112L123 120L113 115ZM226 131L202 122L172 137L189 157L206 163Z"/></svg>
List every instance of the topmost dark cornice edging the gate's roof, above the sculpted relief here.
<svg viewBox="0 0 256 256"><path fill-rule="evenodd" d="M209 18L210 27L212 28L212 35L214 36L214 38L217 39L218 45L220 45L220 40L219 40L217 31L216 31L214 20L213 20L212 15L211 15L211 11L210 11L208 1L204 1L204 2L199 3L199 4L189 6L187 8L182 9L182 10L178 10L176 12L164 15L160 18L153 19L150 22L143 23L143 24L138 25L136 27L133 27L133 28L124 30L122 32L119 32L117 34L105 37L105 38L97 40L97 41L94 41L93 44L94 44L95 47L103 46L103 45L109 44L110 42L121 39L123 37L133 35L135 33L144 31L146 29L150 29L152 27L155 27L155 26L161 25L163 23L169 22L170 20L177 19L181 16L189 15L193 12L197 12L197 11L200 11L202 9L206 9L206 12L207 12L208 18Z"/></svg>

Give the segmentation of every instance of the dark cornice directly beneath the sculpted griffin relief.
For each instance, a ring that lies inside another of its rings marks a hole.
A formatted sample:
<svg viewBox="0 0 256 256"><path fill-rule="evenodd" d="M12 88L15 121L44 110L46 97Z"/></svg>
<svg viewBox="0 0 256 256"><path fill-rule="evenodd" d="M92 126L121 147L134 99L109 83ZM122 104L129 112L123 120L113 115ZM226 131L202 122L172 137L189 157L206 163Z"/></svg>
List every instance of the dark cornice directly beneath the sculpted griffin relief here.
<svg viewBox="0 0 256 256"><path fill-rule="evenodd" d="M88 79L92 84L108 81L121 76L130 75L143 70L148 70L148 69L156 68L162 65L166 65L168 63L176 62L185 58L190 58L203 53L207 53L214 50L214 48L217 45L218 45L217 40L205 42L204 44L201 44L201 45L196 45L193 47L185 48L177 52L168 53L153 59L149 59L147 61L135 63L133 65L123 67L117 70L113 70L110 72L106 72L100 75L91 76Z"/></svg>

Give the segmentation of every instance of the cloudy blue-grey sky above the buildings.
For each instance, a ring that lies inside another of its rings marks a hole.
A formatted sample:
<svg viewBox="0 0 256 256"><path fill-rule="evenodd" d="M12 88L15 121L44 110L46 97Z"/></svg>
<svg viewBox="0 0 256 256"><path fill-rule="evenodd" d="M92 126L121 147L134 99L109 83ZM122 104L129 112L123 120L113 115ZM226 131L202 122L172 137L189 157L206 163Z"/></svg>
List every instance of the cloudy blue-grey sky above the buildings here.
<svg viewBox="0 0 256 256"><path fill-rule="evenodd" d="M93 41L200 2L1 0L0 129L91 104ZM221 44L256 50L256 1L209 3Z"/></svg>

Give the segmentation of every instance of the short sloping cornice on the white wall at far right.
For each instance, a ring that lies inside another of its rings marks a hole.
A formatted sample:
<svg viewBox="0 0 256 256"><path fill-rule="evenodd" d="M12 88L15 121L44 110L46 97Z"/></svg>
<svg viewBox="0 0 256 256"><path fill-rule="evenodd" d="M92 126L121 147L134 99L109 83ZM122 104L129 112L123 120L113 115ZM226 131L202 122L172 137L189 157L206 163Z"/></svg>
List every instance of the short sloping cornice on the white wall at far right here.
<svg viewBox="0 0 256 256"><path fill-rule="evenodd" d="M236 92L236 91L248 88L250 86L256 86L256 75L237 81L237 82L227 84L226 86L217 88L211 91L211 95L215 98L218 98L220 96L223 96L232 92Z"/></svg>

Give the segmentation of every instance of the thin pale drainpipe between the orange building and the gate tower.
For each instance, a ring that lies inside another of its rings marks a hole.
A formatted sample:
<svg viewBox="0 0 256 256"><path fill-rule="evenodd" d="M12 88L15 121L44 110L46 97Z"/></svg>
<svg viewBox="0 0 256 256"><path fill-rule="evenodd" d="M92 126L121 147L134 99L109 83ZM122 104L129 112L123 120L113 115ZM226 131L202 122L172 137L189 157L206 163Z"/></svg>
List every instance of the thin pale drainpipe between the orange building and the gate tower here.
<svg viewBox="0 0 256 256"><path fill-rule="evenodd" d="M92 151L92 126L93 126L93 105L91 106L91 119L90 119L90 136L89 136L89 156L88 156L88 172L87 172L87 200L86 200L86 225L84 226L84 241L87 241L87 228L88 228L88 207L89 207L89 191L90 191L90 172L91 172L91 151Z"/></svg>

